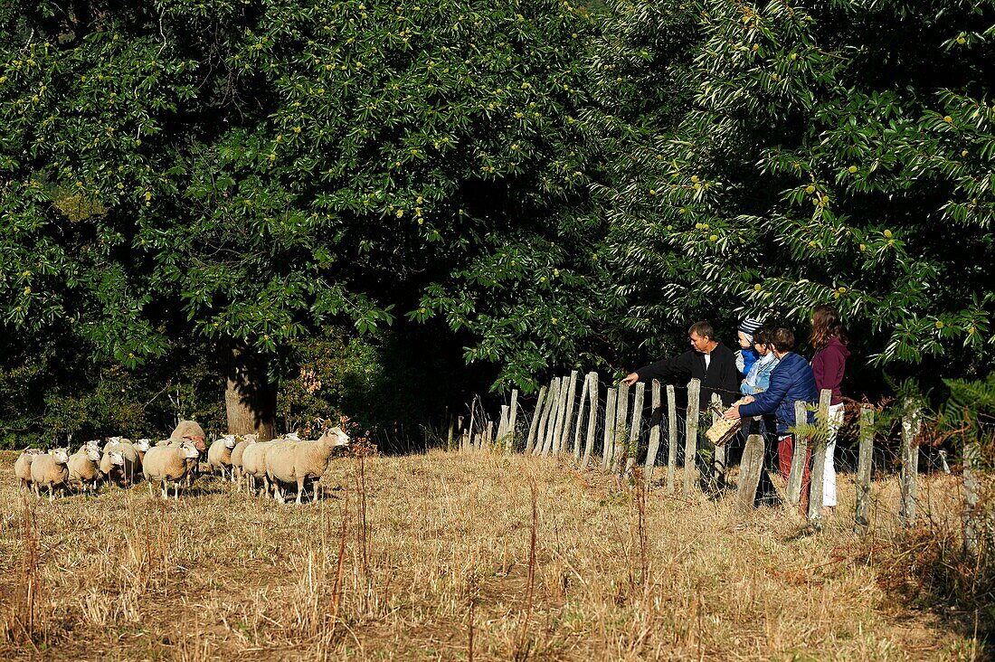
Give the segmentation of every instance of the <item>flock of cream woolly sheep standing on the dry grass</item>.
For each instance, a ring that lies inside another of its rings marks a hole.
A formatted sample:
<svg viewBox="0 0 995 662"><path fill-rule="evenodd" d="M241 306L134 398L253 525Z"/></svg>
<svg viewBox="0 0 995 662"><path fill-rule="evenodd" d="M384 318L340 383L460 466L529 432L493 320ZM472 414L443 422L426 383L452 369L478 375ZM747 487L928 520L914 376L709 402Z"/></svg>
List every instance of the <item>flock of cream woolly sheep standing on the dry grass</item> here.
<svg viewBox="0 0 995 662"><path fill-rule="evenodd" d="M315 440L301 440L296 433L270 441L257 441L254 434L239 437L227 434L218 438L207 450L207 469L230 478L242 488L245 479L249 494L272 496L285 502L285 489L296 485L297 503L308 487L311 501L317 499L314 483L319 481L332 452L349 444L348 435L334 427ZM158 484L163 499L178 499L180 488L187 488L199 473L200 455L205 450L204 432L192 421L181 421L169 439L154 446L149 439L132 442L123 437L110 437L100 445L88 441L70 455L69 448L42 451L26 449L14 463L14 473L20 480L19 490L33 491L41 498L48 488L49 501L55 493L72 488L84 493L96 493L100 483L110 482L130 486L142 477L148 481L149 494Z"/></svg>

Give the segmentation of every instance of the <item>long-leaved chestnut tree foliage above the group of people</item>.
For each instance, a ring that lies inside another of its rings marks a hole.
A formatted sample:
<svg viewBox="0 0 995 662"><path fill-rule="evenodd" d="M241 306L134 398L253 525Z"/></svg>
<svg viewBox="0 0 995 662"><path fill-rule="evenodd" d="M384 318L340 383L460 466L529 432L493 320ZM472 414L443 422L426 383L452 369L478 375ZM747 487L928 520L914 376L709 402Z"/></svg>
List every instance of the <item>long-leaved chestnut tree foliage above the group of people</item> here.
<svg viewBox="0 0 995 662"><path fill-rule="evenodd" d="M629 28L612 43L623 76L603 67L598 87L623 109L651 87L681 103L613 116L629 129L606 188L628 328L656 344L689 312L736 311L803 327L832 303L879 367L990 369L991 2L614 11L668 38Z"/></svg>

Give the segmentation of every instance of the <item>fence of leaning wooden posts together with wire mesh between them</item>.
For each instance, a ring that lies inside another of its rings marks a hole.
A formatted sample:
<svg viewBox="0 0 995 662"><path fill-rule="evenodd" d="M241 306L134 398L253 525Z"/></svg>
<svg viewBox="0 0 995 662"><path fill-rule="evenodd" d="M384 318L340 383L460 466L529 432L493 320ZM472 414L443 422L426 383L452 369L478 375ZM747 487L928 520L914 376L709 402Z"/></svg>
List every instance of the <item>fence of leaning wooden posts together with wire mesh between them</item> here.
<svg viewBox="0 0 995 662"><path fill-rule="evenodd" d="M605 383L595 372L584 377L573 372L553 378L534 399L518 401L517 396L516 391L511 392L510 399L500 405L497 418L489 415L481 398L475 398L469 414L452 423L451 444L464 449L498 447L507 453L572 455L581 468L600 467L616 475L631 476L640 466L647 489L666 486L672 492L678 489L676 467L681 466L685 494L694 489L724 489L729 485L726 482L729 467L739 465L737 489L743 503L752 505L760 498L757 481L778 466L778 436L772 418L746 421L743 429L728 438L727 443L718 446L712 443L717 440L721 444L727 438L719 438L716 433L721 425L712 430L709 427L720 420L721 412L740 393L702 389L697 379L688 385L664 387L654 381L629 387ZM810 463L813 497L808 508L810 521L814 519L816 524L822 505L827 454L813 452L811 459L805 459L808 457L805 449L808 446L821 450L830 438L830 397L830 391L824 390L817 407L812 403L796 403L797 423L789 427L796 438L791 471L783 476L787 482L786 501L804 508L806 499L802 491L806 490L807 496L809 488L803 488L802 475L806 474L805 463ZM897 428L895 417L885 416L882 418L888 418L887 425L876 428L874 408L853 403L848 406L849 415L836 435L836 448L831 456L836 471L856 475L858 527L862 521L862 501L867 503L872 481L899 477L898 517L907 525L915 520L919 473L963 471L966 476L969 470L967 466L951 467L944 448L919 443L921 414L910 403L906 404ZM814 425L809 422L812 419L809 412L813 409ZM663 467L666 470L658 471ZM807 485L808 478L804 480ZM744 489L752 492L743 495Z"/></svg>

